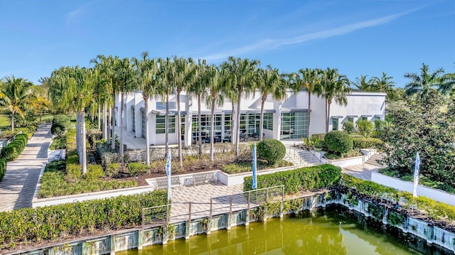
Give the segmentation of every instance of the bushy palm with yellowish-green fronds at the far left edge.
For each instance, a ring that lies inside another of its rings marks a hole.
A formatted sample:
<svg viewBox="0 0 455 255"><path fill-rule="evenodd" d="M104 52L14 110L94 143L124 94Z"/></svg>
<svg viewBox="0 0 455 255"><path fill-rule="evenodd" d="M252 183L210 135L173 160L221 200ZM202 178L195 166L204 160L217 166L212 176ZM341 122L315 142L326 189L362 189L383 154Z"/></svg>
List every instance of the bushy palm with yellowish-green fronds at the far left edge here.
<svg viewBox="0 0 455 255"><path fill-rule="evenodd" d="M44 99L35 94L37 87L28 80L14 76L6 76L3 80L0 81L0 106L10 112L11 131L14 131L14 115L23 117L26 110L37 108Z"/></svg>

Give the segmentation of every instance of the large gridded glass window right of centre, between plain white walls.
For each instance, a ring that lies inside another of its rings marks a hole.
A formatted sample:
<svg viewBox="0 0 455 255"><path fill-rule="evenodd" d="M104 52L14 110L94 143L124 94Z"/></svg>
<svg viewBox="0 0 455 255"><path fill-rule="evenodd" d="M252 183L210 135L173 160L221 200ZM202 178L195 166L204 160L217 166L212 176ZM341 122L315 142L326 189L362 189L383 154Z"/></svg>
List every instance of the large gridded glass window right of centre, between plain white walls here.
<svg viewBox="0 0 455 255"><path fill-rule="evenodd" d="M308 129L308 112L284 112L282 113L282 129L280 139L306 138Z"/></svg>

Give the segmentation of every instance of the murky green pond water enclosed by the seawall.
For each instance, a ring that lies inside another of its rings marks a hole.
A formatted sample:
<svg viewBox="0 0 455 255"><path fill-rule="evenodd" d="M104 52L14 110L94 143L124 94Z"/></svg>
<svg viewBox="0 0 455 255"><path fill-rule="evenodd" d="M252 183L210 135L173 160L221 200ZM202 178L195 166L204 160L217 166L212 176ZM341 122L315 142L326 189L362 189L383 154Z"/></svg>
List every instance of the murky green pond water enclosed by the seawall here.
<svg viewBox="0 0 455 255"><path fill-rule="evenodd" d="M406 241L365 227L349 219L344 210L301 212L249 226L200 234L166 245L146 246L141 251L117 255L145 254L419 254ZM322 215L322 216L321 216ZM352 215L351 215L352 217ZM210 252L208 252L210 251Z"/></svg>

